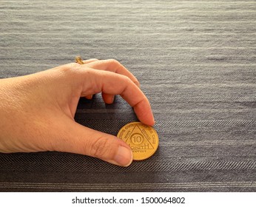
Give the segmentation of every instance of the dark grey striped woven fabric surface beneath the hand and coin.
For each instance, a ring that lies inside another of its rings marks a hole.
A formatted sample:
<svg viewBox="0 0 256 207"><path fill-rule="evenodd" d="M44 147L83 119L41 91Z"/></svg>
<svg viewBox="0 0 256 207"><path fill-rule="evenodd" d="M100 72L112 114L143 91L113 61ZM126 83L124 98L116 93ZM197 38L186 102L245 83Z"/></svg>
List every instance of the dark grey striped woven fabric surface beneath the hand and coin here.
<svg viewBox="0 0 256 207"><path fill-rule="evenodd" d="M127 168L0 154L0 191L256 191L255 17L255 1L0 0L1 78L115 58L141 82L160 138ZM81 99L75 120L112 135L137 121L101 95Z"/></svg>

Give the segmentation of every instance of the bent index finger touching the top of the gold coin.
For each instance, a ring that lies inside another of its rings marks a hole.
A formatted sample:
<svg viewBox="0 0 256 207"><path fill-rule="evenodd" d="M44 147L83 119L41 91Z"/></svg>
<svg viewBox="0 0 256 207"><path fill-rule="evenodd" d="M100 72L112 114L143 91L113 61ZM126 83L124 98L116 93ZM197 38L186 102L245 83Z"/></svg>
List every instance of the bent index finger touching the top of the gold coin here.
<svg viewBox="0 0 256 207"><path fill-rule="evenodd" d="M142 123L149 126L154 125L154 116L146 95L130 78L126 75L95 69L86 69L84 72L87 84L88 77L90 80L90 90L88 91L87 84L84 84L84 94L104 92L110 95L121 95L133 107L135 114Z"/></svg>

